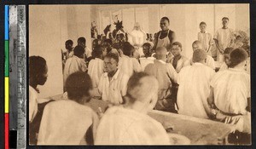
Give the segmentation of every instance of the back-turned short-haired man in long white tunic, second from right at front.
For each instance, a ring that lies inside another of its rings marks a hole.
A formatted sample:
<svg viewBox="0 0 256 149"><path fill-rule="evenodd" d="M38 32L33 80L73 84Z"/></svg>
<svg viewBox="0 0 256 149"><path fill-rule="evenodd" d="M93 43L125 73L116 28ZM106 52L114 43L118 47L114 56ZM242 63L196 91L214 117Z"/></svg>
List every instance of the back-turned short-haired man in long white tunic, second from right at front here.
<svg viewBox="0 0 256 149"><path fill-rule="evenodd" d="M192 117L208 118L211 112L207 103L210 95L210 81L214 71L205 66L207 52L204 49L195 49L192 66L183 67L177 79L178 113Z"/></svg>

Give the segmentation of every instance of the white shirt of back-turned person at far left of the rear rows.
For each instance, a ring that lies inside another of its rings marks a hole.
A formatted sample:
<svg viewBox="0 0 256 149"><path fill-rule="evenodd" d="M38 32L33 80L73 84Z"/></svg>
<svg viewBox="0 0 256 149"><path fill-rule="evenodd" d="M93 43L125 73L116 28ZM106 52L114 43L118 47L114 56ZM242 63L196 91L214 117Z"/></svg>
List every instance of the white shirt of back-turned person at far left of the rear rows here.
<svg viewBox="0 0 256 149"><path fill-rule="evenodd" d="M67 77L73 72L85 72L87 70L86 63L83 59L73 55L73 57L67 59L64 67L64 84L66 83Z"/></svg>

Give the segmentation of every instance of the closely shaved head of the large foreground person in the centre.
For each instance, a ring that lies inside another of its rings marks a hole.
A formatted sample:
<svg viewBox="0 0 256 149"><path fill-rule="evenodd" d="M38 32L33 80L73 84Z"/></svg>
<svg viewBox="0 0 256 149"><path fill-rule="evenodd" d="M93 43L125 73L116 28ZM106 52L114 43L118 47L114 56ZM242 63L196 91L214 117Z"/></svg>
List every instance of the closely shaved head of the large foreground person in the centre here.
<svg viewBox="0 0 256 149"><path fill-rule="evenodd" d="M127 95L131 102L148 102L155 98L157 100L158 82L153 76L145 72L134 73L127 84Z"/></svg>

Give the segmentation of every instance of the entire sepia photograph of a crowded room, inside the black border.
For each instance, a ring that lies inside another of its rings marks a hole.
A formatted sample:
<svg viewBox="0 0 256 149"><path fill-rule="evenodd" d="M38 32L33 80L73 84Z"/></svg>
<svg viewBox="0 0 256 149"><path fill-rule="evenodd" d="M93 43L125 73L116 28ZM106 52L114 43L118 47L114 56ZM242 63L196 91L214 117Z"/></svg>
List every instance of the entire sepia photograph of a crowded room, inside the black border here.
<svg viewBox="0 0 256 149"><path fill-rule="evenodd" d="M28 5L29 145L252 145L249 6Z"/></svg>

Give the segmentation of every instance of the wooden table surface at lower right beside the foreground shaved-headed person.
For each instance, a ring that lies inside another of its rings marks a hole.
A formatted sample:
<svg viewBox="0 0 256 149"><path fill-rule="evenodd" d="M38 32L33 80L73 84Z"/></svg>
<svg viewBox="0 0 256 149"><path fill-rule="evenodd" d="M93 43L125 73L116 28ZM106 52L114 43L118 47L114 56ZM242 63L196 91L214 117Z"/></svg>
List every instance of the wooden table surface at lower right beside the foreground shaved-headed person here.
<svg viewBox="0 0 256 149"><path fill-rule="evenodd" d="M227 136L234 130L230 124L171 112L153 110L148 115L162 123L165 129L171 127L174 132L188 137L192 145L228 144Z"/></svg>

